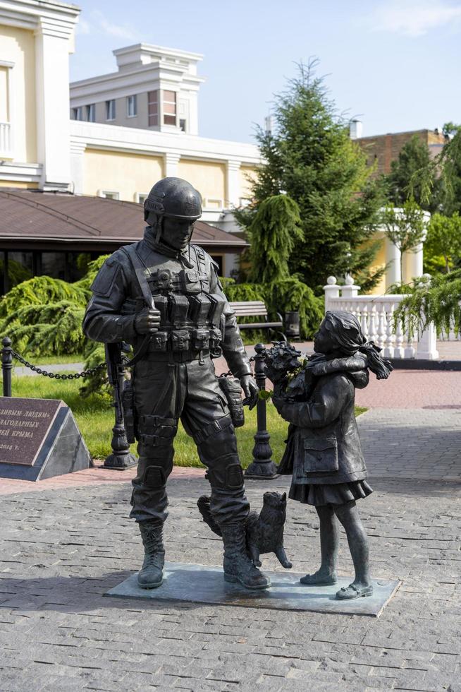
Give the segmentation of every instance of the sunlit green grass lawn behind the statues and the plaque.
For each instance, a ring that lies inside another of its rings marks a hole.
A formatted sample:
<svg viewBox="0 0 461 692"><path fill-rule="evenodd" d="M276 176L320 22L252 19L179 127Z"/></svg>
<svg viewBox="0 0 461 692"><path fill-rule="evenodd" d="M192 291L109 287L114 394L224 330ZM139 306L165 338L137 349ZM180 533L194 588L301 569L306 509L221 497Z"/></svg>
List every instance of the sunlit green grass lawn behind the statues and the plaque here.
<svg viewBox="0 0 461 692"><path fill-rule="evenodd" d="M82 435L95 459L104 459L111 452L111 428L113 426L113 407L102 398L92 395L82 399L78 393L81 381L56 381L41 376L13 376L13 395L18 397L62 399L73 411ZM356 414L364 412L356 408ZM245 426L237 429L238 449L242 466L252 462L253 436L256 432L256 409L245 408ZM286 423L276 412L273 405L267 405L267 427L271 434L273 460L279 463L283 455L284 440L288 429ZM178 466L202 466L197 456L195 444L179 426L175 440L175 464ZM135 445L132 446L135 452Z"/></svg>

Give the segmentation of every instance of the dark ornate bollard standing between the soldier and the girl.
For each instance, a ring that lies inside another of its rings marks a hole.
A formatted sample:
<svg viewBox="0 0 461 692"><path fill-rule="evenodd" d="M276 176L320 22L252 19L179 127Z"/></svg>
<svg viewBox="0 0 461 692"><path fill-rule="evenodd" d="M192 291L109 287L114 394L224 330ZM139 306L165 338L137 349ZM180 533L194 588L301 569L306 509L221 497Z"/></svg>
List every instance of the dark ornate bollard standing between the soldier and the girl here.
<svg viewBox="0 0 461 692"><path fill-rule="evenodd" d="M264 374L264 344L254 347L254 378L260 391L266 390L266 375ZM277 467L272 461L272 450L269 444L271 436L266 430L266 400L258 399L257 402L257 433L254 436L253 460L245 471L245 478L271 479L277 475Z"/></svg>

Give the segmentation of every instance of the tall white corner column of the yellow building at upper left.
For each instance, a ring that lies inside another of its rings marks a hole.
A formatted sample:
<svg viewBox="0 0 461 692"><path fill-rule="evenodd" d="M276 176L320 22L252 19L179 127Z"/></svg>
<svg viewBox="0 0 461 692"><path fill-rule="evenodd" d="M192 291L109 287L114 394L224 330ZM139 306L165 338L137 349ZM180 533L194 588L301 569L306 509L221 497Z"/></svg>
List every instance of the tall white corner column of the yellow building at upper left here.
<svg viewBox="0 0 461 692"><path fill-rule="evenodd" d="M37 158L42 189L70 183L69 52L75 20L39 18L35 31Z"/></svg>

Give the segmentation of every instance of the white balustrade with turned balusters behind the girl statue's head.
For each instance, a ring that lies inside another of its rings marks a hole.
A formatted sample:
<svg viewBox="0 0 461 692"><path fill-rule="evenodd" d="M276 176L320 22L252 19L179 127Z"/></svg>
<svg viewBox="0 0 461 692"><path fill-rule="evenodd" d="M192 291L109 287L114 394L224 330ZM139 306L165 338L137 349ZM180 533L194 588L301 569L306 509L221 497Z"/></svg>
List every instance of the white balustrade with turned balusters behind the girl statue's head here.
<svg viewBox="0 0 461 692"><path fill-rule="evenodd" d="M404 295L359 296L359 287L350 278L345 286L338 286L334 276L328 277L324 291L325 311L342 310L355 315L364 337L381 347L385 358L438 359L433 324L422 333L412 333L401 323L394 328L394 313Z"/></svg>

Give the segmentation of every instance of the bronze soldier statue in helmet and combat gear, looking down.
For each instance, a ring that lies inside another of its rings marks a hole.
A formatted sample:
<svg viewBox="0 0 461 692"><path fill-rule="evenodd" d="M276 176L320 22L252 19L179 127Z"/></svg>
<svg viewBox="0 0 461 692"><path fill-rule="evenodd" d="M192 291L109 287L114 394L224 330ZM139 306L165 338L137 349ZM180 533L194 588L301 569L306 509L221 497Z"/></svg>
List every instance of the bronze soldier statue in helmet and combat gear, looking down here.
<svg viewBox="0 0 461 692"><path fill-rule="evenodd" d="M145 549L138 583L150 589L162 582L166 479L181 419L207 466L210 511L223 537L224 578L264 589L269 580L247 554L249 503L233 422L211 358L223 353L245 395L254 395L257 385L217 265L190 244L202 215L199 192L185 180L164 178L150 191L144 215L143 239L118 249L99 270L83 321L89 338L127 341L138 356L132 379L140 458L130 513Z"/></svg>

